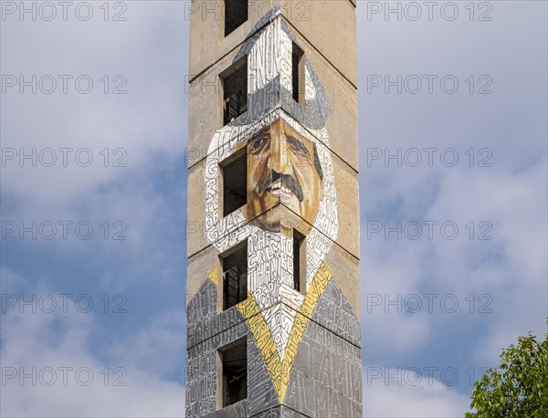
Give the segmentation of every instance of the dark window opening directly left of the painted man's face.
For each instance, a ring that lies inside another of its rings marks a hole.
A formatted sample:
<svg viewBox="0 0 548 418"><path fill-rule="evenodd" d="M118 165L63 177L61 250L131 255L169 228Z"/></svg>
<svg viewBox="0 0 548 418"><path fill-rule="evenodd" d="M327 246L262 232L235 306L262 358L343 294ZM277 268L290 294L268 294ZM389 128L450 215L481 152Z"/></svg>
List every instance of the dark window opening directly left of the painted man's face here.
<svg viewBox="0 0 548 418"><path fill-rule="evenodd" d="M234 157L233 157L234 158ZM244 149L236 159L222 162L223 216L248 203L248 154Z"/></svg>

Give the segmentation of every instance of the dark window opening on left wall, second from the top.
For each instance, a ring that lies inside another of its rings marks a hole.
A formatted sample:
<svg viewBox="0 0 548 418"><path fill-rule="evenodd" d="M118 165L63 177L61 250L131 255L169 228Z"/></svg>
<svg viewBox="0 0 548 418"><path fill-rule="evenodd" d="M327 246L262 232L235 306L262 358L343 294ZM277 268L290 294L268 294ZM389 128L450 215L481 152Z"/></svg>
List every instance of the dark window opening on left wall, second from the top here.
<svg viewBox="0 0 548 418"><path fill-rule="evenodd" d="M228 68L223 82L223 123L227 125L248 110L248 57Z"/></svg>

